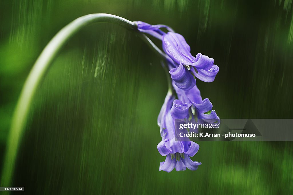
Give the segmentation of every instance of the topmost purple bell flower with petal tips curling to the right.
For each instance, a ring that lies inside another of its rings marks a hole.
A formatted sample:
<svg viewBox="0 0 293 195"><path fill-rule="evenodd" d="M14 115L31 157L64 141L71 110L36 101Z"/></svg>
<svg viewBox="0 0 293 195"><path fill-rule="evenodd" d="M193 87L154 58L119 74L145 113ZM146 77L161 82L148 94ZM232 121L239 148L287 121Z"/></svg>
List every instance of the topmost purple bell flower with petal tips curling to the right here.
<svg viewBox="0 0 293 195"><path fill-rule="evenodd" d="M195 57L191 55L190 46L182 35L173 32L163 34L162 44L164 52L179 66L182 64L187 67L194 77L204 82L214 81L219 72L219 67L214 65L214 59L201 53L198 53ZM178 87L180 88L180 86Z"/></svg>

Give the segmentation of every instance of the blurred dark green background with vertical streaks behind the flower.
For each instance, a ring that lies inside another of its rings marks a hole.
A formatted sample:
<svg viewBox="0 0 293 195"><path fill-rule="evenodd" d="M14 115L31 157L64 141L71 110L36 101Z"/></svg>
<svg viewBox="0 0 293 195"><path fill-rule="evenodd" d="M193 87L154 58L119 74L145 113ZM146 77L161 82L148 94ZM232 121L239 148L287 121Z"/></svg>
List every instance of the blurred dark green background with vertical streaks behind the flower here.
<svg viewBox="0 0 293 195"><path fill-rule="evenodd" d="M89 13L169 25L194 55L213 57L215 81L197 85L220 118L293 118L292 0L2 0L1 167L32 65L62 27ZM11 186L62 195L293 193L292 142L199 142L197 171L159 172L156 118L166 93L159 57L134 33L84 28L33 99Z"/></svg>

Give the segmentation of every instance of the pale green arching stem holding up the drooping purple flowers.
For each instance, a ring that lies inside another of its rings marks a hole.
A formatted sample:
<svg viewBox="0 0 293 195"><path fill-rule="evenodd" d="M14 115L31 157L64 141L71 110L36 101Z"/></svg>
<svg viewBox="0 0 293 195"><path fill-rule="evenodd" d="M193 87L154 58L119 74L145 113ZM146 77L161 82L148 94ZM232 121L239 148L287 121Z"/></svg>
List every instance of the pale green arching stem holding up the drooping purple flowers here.
<svg viewBox="0 0 293 195"><path fill-rule="evenodd" d="M137 26L134 22L126 20L125 18L106 13L95 13L77 18L62 28L47 44L38 57L21 91L21 95L18 99L11 121L11 129L7 140L0 186L9 186L11 184L20 141L27 122L28 111L36 89L45 72L47 72L50 64L69 38L71 38L83 27L97 22L118 24L128 30L138 33L139 37L142 38L153 50L155 50L157 54L165 60L169 60L168 56L156 47L156 45L146 35L137 30Z"/></svg>

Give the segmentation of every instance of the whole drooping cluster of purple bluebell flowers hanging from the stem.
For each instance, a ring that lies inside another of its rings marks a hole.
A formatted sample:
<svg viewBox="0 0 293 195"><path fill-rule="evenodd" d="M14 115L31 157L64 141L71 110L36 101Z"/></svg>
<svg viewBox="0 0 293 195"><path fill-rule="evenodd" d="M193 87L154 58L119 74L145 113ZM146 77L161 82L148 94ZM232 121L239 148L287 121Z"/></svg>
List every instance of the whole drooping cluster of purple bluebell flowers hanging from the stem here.
<svg viewBox="0 0 293 195"><path fill-rule="evenodd" d="M171 58L167 61L172 86L175 94L168 91L161 108L158 125L162 141L158 144L158 151L166 156L165 162L160 163L159 170L171 172L182 171L186 168L196 170L200 162L194 162L190 157L199 150L199 145L189 139L176 140L175 126L178 120L196 121L202 119L206 123L218 123L219 117L212 110L212 103L208 98L203 99L196 86L196 78L204 82L212 82L219 67L214 65L214 59L198 53L195 57L190 53L190 46L184 37L175 33L166 25L150 25L141 21L136 22L138 30L162 40L163 51ZM165 33L160 28L166 28Z"/></svg>

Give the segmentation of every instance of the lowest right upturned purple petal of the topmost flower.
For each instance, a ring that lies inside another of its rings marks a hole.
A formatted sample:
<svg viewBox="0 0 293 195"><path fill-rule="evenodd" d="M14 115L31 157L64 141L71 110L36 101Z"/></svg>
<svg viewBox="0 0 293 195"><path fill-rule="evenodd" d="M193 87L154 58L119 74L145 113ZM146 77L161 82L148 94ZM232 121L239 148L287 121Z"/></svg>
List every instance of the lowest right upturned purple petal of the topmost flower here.
<svg viewBox="0 0 293 195"><path fill-rule="evenodd" d="M217 73L219 72L219 67L217 65L213 65L211 69L209 70L200 70L197 69L197 72L195 71L195 67L190 67L190 71L193 72L196 78L210 83L213 82Z"/></svg>

